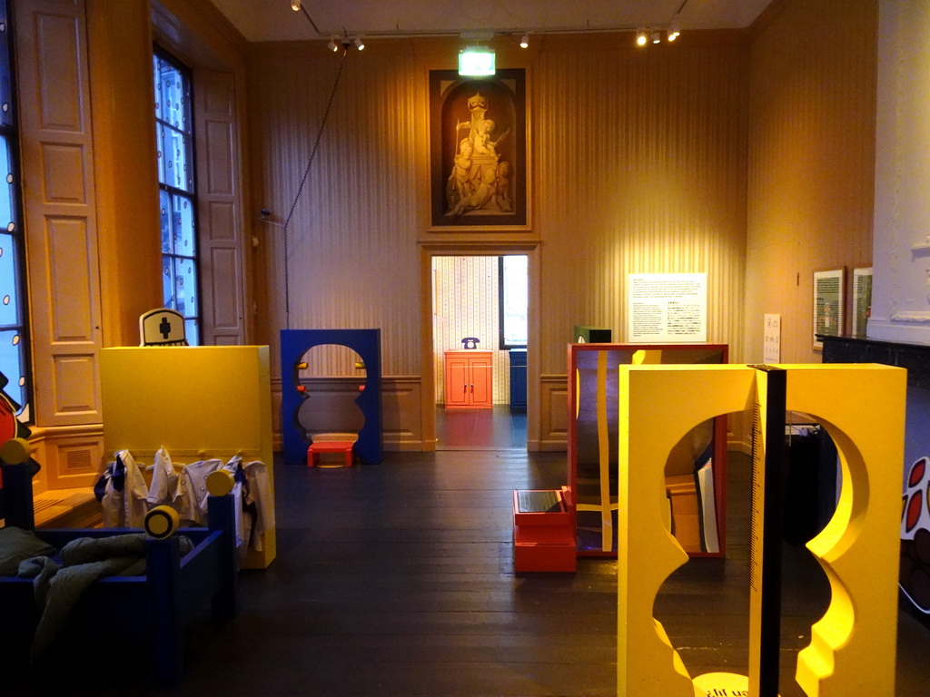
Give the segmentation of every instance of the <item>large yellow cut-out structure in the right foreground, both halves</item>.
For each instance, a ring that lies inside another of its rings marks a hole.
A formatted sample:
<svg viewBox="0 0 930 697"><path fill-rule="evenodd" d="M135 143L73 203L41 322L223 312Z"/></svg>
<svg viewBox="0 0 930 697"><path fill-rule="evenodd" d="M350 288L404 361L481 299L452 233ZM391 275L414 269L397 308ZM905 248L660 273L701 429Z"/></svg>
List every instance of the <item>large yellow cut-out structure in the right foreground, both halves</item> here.
<svg viewBox="0 0 930 697"><path fill-rule="evenodd" d="M893 697L907 374L864 364L777 367L788 371L786 408L827 428L843 471L837 511L807 545L832 598L799 655L798 683L808 697ZM663 470L688 429L754 405L757 371L621 365L618 373L618 694L693 697L699 689L652 615L659 588L687 559L663 523Z"/></svg>

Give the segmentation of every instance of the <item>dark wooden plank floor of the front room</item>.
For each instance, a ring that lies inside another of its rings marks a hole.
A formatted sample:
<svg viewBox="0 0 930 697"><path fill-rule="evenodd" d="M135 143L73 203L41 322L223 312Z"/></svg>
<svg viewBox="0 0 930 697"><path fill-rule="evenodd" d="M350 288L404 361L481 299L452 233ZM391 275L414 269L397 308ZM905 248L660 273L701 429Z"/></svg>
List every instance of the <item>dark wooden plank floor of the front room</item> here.
<svg viewBox="0 0 930 697"><path fill-rule="evenodd" d="M689 561L657 600L694 676L745 672L748 467L731 458L727 559ZM193 627L181 690L145 690L131 673L113 687L113 672L140 658L116 645L79 667L37 669L7 694L617 694L616 561L513 572L512 490L564 483L564 453L392 453L378 466L277 466L274 475L278 558L243 572L232 622ZM787 551L781 695L795 697L794 653L827 594L809 554ZM897 626L896 695L927 697L930 632L903 614Z"/></svg>

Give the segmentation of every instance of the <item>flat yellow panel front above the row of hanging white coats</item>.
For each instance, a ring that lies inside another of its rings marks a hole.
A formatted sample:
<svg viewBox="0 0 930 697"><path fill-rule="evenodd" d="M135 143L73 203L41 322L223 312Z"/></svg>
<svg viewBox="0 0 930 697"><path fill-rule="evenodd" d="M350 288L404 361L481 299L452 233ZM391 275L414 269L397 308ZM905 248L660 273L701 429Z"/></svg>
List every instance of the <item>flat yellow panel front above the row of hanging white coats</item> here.
<svg viewBox="0 0 930 697"><path fill-rule="evenodd" d="M140 462L164 447L188 464L242 455L260 460L272 484L272 390L267 346L126 347L100 352L103 442ZM265 568L275 531L244 566Z"/></svg>

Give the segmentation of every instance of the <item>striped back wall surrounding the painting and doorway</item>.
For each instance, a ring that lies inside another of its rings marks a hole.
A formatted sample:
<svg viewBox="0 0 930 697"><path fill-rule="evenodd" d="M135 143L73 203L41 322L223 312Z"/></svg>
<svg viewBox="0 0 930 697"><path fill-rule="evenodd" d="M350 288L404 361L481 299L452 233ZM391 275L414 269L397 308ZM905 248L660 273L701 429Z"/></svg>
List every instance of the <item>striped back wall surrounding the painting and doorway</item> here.
<svg viewBox="0 0 930 697"><path fill-rule="evenodd" d="M564 427L565 376L577 323L623 338L629 273L706 272L710 341L741 348L745 239L748 47L737 33L695 34L645 51L630 34L545 36L535 49L499 46L498 65L527 71L530 221L526 230L429 230L429 71L454 67L453 40L366 42L340 77L326 130L307 167L339 54L315 43L251 46L254 222L269 283L262 341L277 330L382 330L383 375L432 377L431 298L417 283L422 250L442 256L538 246L531 322L530 447ZM426 285L429 288L429 284ZM535 295L534 295L535 294ZM284 309L287 300L289 318ZM426 307L424 319L423 308ZM421 338L421 333L424 338ZM532 332L531 332L532 334ZM272 356L274 352L272 351ZM561 377L560 377L561 376ZM424 395L432 394L426 389ZM427 398L432 399L432 398ZM388 410L386 409L386 412ZM394 414L410 430L424 414ZM544 422L544 426L539 426ZM429 447L429 433L424 434Z"/></svg>

